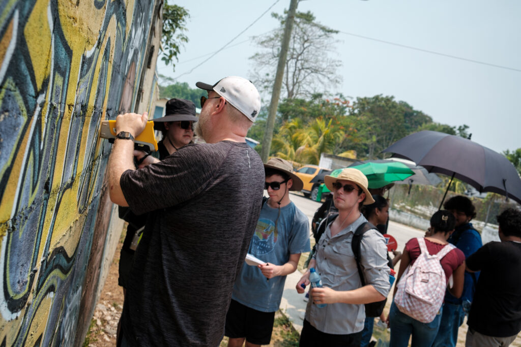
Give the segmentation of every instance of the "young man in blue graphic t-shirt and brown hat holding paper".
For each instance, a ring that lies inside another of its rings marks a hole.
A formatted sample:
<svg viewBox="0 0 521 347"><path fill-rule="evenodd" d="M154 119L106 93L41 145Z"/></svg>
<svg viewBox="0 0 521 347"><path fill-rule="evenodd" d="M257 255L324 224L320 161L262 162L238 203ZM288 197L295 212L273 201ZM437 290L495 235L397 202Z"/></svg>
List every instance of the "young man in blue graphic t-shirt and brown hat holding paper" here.
<svg viewBox="0 0 521 347"><path fill-rule="evenodd" d="M302 189L302 180L280 158L268 160L264 170L269 199L263 203L248 252L265 264L243 264L235 281L226 315L228 346L242 346L244 340L246 346L269 344L286 275L295 272L301 253L310 250L307 216L289 196L290 190Z"/></svg>

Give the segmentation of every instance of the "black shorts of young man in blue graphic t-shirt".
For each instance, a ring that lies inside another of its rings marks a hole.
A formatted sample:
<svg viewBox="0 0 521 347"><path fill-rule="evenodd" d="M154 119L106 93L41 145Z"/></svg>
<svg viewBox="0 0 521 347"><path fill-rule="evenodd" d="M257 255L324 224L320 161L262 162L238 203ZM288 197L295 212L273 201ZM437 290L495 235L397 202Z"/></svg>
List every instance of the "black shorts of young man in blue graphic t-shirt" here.
<svg viewBox="0 0 521 347"><path fill-rule="evenodd" d="M225 336L246 338L253 344L269 344L275 312L262 312L232 299L226 314Z"/></svg>

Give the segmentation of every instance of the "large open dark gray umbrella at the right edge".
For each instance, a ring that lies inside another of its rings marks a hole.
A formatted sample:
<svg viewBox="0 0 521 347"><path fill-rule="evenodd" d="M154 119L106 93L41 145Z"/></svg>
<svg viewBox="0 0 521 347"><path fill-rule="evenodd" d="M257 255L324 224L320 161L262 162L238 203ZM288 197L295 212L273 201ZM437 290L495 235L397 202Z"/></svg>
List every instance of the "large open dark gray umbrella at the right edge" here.
<svg viewBox="0 0 521 347"><path fill-rule="evenodd" d="M514 165L469 139L426 130L405 136L383 152L412 160L429 172L452 176L451 182L456 177L479 192L491 191L521 203L521 178Z"/></svg>

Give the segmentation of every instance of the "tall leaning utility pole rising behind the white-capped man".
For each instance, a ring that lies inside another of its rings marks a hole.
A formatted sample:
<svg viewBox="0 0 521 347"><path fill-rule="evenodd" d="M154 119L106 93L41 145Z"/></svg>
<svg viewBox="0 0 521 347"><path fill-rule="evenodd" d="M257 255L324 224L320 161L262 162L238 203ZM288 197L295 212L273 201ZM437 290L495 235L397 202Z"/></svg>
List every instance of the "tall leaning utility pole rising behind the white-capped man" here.
<svg viewBox="0 0 521 347"><path fill-rule="evenodd" d="M282 86L282 78L284 77L284 65L288 56L288 47L290 44L291 31L293 30L293 22L295 20L295 11L298 0L291 0L288 18L286 18L286 27L284 27L284 35L282 36L282 45L280 47L279 62L277 64L277 74L275 75L275 83L271 92L271 102L268 109L268 121L266 122L266 130L262 142L261 159L263 162L268 161L269 150L271 148L271 140L273 139L273 128L275 127L275 116L279 107L280 87Z"/></svg>

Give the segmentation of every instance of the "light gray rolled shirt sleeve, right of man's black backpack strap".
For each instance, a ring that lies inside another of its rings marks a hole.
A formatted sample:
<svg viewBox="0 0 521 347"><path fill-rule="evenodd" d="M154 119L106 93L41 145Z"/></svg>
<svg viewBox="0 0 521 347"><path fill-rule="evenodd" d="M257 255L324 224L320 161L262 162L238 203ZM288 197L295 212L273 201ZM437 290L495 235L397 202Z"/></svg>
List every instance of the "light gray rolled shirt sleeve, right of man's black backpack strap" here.
<svg viewBox="0 0 521 347"><path fill-rule="evenodd" d="M361 260L366 284L372 285L380 294L389 294L389 266L387 265L386 241L378 230L364 233L360 245Z"/></svg>

